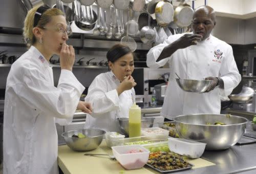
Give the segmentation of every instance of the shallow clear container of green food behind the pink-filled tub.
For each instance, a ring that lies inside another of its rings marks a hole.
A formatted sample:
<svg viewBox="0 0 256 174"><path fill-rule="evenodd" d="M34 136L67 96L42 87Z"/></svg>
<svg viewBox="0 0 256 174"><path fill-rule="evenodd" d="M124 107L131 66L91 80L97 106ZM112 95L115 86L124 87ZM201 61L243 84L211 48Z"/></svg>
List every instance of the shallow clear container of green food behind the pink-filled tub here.
<svg viewBox="0 0 256 174"><path fill-rule="evenodd" d="M133 137L133 138L123 138L113 142L115 145L142 145L142 144L150 144L156 142L167 141L167 137L165 135L157 135L157 136L142 136L142 137Z"/></svg>

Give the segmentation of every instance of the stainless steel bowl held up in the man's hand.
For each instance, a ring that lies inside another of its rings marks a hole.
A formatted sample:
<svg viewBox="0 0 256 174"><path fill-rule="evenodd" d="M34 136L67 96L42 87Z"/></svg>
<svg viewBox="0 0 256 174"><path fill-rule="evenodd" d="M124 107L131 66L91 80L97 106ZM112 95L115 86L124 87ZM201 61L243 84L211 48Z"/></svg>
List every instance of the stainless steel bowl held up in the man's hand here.
<svg viewBox="0 0 256 174"><path fill-rule="evenodd" d="M176 81L183 91L204 93L208 89L212 80L189 80L176 78Z"/></svg>

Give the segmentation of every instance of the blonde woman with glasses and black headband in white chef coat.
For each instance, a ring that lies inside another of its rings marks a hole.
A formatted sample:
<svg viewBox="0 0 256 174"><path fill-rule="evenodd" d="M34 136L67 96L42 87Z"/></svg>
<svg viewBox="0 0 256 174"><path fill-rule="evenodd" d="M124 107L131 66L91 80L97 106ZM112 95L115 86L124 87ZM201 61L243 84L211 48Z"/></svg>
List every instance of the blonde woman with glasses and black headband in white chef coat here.
<svg viewBox="0 0 256 174"><path fill-rule="evenodd" d="M80 102L84 87L72 73L75 54L68 46L66 19L58 9L35 7L25 19L29 50L12 64L7 78L4 110L4 174L58 173L55 120L67 123ZM58 86L49 59L60 57Z"/></svg>

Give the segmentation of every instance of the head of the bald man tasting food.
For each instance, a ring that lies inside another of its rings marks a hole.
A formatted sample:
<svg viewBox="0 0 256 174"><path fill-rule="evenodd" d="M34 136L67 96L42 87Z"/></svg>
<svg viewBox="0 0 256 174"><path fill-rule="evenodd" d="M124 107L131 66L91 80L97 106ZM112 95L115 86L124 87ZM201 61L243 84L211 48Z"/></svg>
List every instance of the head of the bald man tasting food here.
<svg viewBox="0 0 256 174"><path fill-rule="evenodd" d="M202 40L209 37L216 25L215 11L209 6L200 6L194 11L192 30L194 34L203 36Z"/></svg>

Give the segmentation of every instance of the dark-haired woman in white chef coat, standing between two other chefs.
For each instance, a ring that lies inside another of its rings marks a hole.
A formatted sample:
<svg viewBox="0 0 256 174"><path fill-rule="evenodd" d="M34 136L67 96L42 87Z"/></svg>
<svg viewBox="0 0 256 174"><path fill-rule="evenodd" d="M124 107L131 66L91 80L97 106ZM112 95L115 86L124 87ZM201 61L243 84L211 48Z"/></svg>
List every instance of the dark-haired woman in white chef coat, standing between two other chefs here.
<svg viewBox="0 0 256 174"><path fill-rule="evenodd" d="M85 100L93 112L87 114L85 127L120 133L117 118L129 116L135 98L134 57L129 47L115 45L106 58L111 71L99 74L89 86Z"/></svg>

